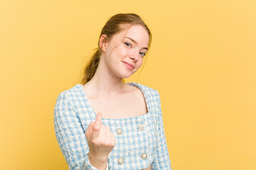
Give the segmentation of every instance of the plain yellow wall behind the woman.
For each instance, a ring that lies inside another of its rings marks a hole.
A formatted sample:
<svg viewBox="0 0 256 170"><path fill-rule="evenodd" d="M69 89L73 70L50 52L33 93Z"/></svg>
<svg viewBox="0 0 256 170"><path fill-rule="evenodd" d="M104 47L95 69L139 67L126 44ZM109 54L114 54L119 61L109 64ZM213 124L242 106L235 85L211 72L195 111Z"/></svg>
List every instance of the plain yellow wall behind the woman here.
<svg viewBox="0 0 256 170"><path fill-rule="evenodd" d="M53 126L100 30L138 13L153 34L126 81L159 91L174 170L256 169L256 1L1 1L1 169L68 169Z"/></svg>

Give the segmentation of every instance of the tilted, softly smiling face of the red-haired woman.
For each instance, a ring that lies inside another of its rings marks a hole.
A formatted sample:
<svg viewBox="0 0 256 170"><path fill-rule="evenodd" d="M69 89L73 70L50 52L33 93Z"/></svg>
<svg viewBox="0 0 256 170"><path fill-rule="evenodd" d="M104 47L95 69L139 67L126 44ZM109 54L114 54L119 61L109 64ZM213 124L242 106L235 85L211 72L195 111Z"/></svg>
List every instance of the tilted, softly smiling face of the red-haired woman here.
<svg viewBox="0 0 256 170"><path fill-rule="evenodd" d="M117 76L130 77L142 66L149 34L142 26L131 26L112 36L105 44L105 62Z"/></svg>

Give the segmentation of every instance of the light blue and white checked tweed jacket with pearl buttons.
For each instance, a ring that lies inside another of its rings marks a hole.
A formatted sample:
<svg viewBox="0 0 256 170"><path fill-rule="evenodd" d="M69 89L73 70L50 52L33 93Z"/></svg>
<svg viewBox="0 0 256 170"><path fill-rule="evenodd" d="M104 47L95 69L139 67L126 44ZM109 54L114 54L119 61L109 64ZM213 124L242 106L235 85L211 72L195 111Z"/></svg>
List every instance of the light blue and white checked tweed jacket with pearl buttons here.
<svg viewBox="0 0 256 170"><path fill-rule="evenodd" d="M116 140L108 157L108 169L138 170L151 164L151 169L171 170L159 92L142 84L127 84L142 91L148 113L130 118L102 118ZM54 108L55 137L69 169L96 169L89 162L85 137L85 130L95 118L82 84L60 92Z"/></svg>

